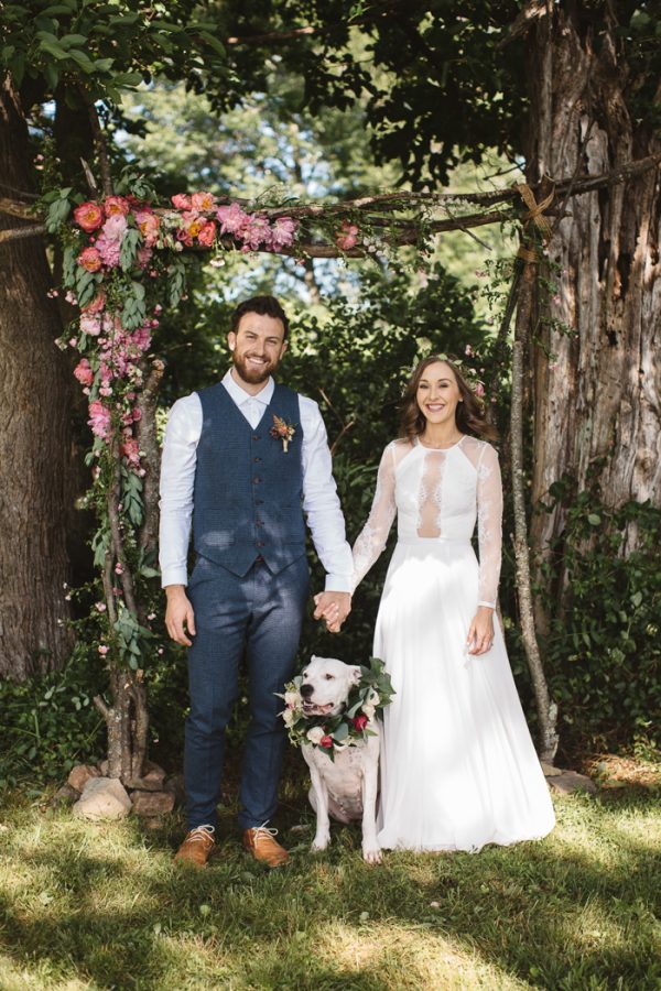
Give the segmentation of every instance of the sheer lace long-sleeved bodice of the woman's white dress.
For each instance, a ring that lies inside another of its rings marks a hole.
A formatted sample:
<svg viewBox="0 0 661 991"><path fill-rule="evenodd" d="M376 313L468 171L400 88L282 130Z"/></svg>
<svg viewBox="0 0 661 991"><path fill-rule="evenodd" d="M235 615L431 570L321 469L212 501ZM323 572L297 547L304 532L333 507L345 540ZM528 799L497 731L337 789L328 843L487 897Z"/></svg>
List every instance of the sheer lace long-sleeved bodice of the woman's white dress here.
<svg viewBox="0 0 661 991"><path fill-rule="evenodd" d="M478 605L496 607L502 543L502 486L498 454L465 435L446 450L419 440L392 440L384 449L372 508L354 544L356 586L377 560L394 516L398 537L469 541L477 520Z"/></svg>

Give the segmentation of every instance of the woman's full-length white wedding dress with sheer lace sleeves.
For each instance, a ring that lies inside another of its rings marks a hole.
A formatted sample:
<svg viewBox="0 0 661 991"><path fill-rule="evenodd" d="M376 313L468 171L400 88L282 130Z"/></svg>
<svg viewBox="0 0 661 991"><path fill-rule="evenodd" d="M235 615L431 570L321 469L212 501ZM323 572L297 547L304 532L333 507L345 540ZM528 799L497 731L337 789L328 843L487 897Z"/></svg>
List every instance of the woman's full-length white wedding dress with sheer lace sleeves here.
<svg viewBox="0 0 661 991"><path fill-rule="evenodd" d="M379 842L478 850L545 836L555 823L494 616L480 656L466 638L479 603L496 605L502 489L496 450L464 436L434 450L394 440L354 546L354 586L398 543L375 632L397 695L384 710ZM479 565L470 538L477 520Z"/></svg>

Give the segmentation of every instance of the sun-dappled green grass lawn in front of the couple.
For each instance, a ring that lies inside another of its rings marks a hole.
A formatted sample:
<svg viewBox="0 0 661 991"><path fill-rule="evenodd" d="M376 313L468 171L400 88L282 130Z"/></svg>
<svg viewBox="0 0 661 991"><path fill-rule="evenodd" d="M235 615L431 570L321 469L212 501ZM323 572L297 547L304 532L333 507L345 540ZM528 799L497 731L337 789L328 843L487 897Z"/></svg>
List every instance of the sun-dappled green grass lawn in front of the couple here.
<svg viewBox="0 0 661 991"><path fill-rule="evenodd" d="M227 813L208 870L176 868L176 814L91 825L11 799L0 809L0 988L659 989L661 809L653 793L555 799L542 842L364 864L289 773L292 862L268 872ZM292 830L292 827L294 828ZM301 828L304 826L304 828Z"/></svg>

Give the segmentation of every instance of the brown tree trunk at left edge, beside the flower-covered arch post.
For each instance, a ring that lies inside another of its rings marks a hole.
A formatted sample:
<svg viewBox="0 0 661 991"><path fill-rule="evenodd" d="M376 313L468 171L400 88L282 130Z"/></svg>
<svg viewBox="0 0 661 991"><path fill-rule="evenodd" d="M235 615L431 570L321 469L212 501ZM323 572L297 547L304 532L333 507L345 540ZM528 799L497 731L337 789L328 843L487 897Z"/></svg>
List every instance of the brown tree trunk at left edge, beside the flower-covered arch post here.
<svg viewBox="0 0 661 991"><path fill-rule="evenodd" d="M9 80L0 84L0 175L24 190L28 127ZM0 230L30 221L0 214ZM0 675L24 679L58 667L71 649L65 520L68 512L68 378L39 237L0 246Z"/></svg>

